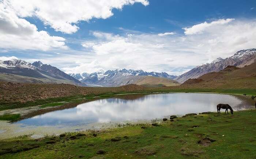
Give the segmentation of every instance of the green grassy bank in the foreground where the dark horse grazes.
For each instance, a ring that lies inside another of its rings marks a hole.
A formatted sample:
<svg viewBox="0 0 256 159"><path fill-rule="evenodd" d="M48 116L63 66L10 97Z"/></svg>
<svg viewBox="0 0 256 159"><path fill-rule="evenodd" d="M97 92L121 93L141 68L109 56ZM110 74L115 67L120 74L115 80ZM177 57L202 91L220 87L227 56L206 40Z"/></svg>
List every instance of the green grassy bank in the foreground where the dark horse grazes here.
<svg viewBox="0 0 256 159"><path fill-rule="evenodd" d="M0 141L0 158L256 158L255 110L174 120L80 132L85 136L7 139Z"/></svg>

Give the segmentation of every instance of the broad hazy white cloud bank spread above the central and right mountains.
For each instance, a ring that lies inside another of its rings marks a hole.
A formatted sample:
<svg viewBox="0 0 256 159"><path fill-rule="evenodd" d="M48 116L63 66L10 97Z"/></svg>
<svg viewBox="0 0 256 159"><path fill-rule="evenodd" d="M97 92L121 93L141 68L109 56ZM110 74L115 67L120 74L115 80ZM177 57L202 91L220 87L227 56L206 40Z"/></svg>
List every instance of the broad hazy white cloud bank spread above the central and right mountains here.
<svg viewBox="0 0 256 159"><path fill-rule="evenodd" d="M179 75L217 57L226 58L241 49L255 48L256 20L233 20L207 27L202 33L192 35L114 35L97 32L95 37L95 40L82 44L91 42L91 47L87 48L91 50L88 57L97 63L91 63L88 57L74 59L79 61L77 66L64 70L93 72L99 67L105 70L127 68Z"/></svg>

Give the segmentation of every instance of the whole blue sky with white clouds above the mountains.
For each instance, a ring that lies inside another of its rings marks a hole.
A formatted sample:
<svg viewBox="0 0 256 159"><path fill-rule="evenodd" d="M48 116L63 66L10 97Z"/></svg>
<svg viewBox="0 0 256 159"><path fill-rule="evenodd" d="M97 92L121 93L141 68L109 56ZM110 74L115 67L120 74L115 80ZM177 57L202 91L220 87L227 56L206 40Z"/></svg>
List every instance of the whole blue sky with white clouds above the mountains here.
<svg viewBox="0 0 256 159"><path fill-rule="evenodd" d="M255 0L0 0L0 60L181 75L256 48Z"/></svg>

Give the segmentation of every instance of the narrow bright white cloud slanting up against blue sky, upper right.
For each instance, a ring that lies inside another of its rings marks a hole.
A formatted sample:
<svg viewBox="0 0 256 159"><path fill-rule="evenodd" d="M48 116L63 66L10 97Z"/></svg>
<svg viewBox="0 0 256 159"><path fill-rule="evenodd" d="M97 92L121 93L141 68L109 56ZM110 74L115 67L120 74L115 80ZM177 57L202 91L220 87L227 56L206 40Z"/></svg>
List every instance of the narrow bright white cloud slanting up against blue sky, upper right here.
<svg viewBox="0 0 256 159"><path fill-rule="evenodd" d="M207 23L205 21L204 23L193 25L190 28L182 28L182 29L185 30L184 33L186 35L200 34L200 33L203 33L203 31L205 31L206 29L208 29L210 27L216 27L218 25L227 24L233 20L234 19L219 19L217 21L212 21L211 23Z"/></svg>

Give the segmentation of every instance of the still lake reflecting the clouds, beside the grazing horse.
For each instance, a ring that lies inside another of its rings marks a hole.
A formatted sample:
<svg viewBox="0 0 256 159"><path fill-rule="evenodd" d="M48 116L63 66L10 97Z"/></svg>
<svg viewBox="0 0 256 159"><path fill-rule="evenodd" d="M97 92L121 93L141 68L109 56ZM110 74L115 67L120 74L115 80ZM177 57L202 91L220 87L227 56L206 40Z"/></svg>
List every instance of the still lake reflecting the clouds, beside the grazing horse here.
<svg viewBox="0 0 256 159"><path fill-rule="evenodd" d="M166 93L120 95L79 104L76 107L48 112L20 120L5 128L1 134L60 134L67 131L83 131L104 128L111 123L150 122L170 115L217 112L217 104L229 104L234 111L253 107L251 99L243 96L201 93ZM222 113L225 110L221 110ZM236 112L234 112L235 114ZM10 128L11 127L11 128Z"/></svg>

